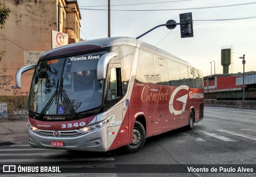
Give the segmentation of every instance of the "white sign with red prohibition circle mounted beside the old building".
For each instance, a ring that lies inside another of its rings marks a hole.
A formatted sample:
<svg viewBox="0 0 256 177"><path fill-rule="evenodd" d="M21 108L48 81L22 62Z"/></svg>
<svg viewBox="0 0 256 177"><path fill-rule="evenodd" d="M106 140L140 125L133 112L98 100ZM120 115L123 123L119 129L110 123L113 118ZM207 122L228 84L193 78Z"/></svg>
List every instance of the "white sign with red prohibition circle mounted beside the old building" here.
<svg viewBox="0 0 256 177"><path fill-rule="evenodd" d="M52 30L52 49L68 44L68 34Z"/></svg>

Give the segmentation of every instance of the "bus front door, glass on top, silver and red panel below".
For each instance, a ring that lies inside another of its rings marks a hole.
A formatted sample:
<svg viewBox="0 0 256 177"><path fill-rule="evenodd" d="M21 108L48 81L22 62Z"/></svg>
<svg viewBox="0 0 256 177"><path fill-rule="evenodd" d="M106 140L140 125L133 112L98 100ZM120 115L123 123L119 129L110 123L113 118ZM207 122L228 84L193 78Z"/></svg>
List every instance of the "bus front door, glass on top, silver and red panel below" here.
<svg viewBox="0 0 256 177"><path fill-rule="evenodd" d="M112 63L108 82L108 150L115 149L128 143L128 127L123 122L123 91L122 91L122 68L120 63Z"/></svg>

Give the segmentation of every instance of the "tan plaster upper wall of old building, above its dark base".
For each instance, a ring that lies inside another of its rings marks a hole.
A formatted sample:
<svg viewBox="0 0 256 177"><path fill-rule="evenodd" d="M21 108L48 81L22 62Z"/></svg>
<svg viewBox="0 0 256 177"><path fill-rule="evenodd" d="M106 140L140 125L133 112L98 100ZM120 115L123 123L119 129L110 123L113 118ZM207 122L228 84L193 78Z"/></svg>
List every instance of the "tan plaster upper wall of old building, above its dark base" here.
<svg viewBox="0 0 256 177"><path fill-rule="evenodd" d="M15 88L16 71L24 65L34 64L32 57L39 58L40 54L52 48L51 30L57 30L56 0L0 2L12 11L6 20L5 29L0 30L0 50L6 51L0 61L0 96L26 96L29 94L33 71L22 75L21 89Z"/></svg>

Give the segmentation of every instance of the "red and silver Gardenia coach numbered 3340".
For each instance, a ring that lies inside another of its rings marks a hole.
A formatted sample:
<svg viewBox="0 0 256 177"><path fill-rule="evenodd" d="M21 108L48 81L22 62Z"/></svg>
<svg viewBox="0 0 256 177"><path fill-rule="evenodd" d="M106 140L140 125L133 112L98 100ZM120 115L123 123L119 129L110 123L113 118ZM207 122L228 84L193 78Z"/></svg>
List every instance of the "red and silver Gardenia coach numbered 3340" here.
<svg viewBox="0 0 256 177"><path fill-rule="evenodd" d="M45 52L29 97L34 148L138 151L145 139L204 118L202 72L130 37L82 41Z"/></svg>

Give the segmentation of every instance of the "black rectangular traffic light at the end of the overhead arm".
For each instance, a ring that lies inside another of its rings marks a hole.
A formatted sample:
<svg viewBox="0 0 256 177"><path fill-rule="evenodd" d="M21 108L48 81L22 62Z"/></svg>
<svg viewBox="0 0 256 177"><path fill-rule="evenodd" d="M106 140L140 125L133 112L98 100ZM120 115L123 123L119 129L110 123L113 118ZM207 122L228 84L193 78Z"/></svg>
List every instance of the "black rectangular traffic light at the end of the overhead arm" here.
<svg viewBox="0 0 256 177"><path fill-rule="evenodd" d="M192 12L180 14L180 37L193 37Z"/></svg>

